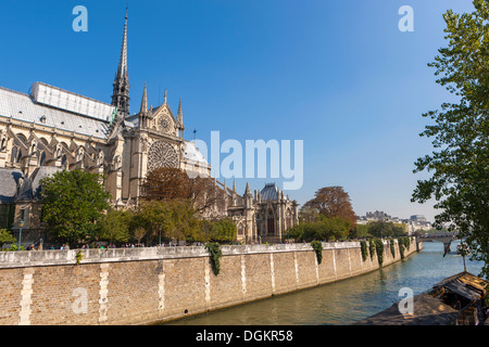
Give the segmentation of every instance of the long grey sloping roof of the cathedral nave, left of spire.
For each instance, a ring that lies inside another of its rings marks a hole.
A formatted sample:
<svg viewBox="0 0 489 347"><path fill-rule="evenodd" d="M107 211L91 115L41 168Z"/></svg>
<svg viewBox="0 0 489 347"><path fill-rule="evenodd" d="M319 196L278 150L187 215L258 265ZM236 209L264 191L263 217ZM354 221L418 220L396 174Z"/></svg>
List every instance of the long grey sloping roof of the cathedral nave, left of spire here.
<svg viewBox="0 0 489 347"><path fill-rule="evenodd" d="M72 94L66 92L66 94ZM108 105L110 106L110 105ZM109 117L110 115L108 115ZM38 103L34 97L0 87L0 117L106 139L108 121Z"/></svg>

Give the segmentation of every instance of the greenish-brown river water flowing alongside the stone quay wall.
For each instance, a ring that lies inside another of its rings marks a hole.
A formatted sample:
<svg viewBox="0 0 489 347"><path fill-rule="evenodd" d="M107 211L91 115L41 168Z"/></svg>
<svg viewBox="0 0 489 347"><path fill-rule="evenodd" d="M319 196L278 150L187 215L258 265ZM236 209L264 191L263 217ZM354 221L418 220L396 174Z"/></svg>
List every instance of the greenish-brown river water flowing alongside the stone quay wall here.
<svg viewBox="0 0 489 347"><path fill-rule="evenodd" d="M456 244L443 257L443 244L425 242L424 248L396 264L352 279L239 305L165 325L343 325L375 314L464 270ZM465 259L467 271L478 275L481 262Z"/></svg>

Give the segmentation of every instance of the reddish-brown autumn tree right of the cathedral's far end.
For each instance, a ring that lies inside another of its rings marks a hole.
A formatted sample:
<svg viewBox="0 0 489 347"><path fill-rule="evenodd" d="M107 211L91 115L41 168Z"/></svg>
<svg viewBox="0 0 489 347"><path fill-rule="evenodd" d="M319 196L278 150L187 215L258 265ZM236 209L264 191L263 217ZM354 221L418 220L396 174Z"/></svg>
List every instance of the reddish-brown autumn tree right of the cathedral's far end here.
<svg viewBox="0 0 489 347"><path fill-rule="evenodd" d="M314 198L304 204L304 208L315 208L327 218L340 217L350 222L353 230L356 224L356 216L351 206L350 196L342 187L325 187L317 190Z"/></svg>

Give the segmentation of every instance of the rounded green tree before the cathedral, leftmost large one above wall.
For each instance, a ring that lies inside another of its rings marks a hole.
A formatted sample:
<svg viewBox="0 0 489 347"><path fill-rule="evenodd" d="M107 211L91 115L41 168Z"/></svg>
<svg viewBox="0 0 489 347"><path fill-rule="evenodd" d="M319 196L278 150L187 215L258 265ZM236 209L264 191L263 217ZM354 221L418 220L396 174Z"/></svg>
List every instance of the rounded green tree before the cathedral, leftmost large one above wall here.
<svg viewBox="0 0 489 347"><path fill-rule="evenodd" d="M42 221L58 241L74 244L96 236L96 223L110 205L100 175L62 170L41 180Z"/></svg>

